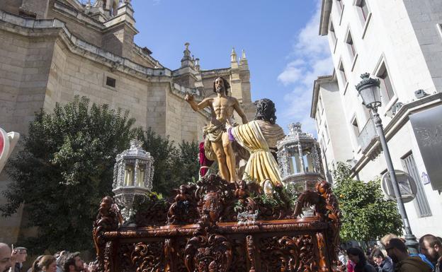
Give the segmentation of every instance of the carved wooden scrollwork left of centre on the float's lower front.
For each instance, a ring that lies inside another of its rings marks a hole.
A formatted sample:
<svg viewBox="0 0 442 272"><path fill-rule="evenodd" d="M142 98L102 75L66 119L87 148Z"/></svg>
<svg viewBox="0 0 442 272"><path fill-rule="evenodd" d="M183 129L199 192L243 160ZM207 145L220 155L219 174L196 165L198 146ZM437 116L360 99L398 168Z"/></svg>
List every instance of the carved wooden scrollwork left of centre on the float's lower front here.
<svg viewBox="0 0 442 272"><path fill-rule="evenodd" d="M164 271L164 242L155 241L135 245L131 254L132 264L137 266L137 272Z"/></svg>

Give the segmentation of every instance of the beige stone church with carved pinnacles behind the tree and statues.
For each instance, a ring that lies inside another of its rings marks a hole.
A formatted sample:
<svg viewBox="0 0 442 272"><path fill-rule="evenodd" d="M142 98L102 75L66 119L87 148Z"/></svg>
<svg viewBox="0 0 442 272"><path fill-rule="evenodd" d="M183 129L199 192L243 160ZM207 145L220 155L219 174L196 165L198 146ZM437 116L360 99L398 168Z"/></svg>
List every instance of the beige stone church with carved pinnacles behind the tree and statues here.
<svg viewBox="0 0 442 272"><path fill-rule="evenodd" d="M130 110L137 125L175 142L200 141L210 112L193 112L183 100L214 95L217 76L229 79L249 119L253 119L250 73L243 52L232 50L230 67L203 70L186 44L179 69L168 69L138 31L130 1L0 0L0 124L26 134L34 112L50 112L76 95L112 108ZM219 54L219 52L213 52ZM236 119L240 122L239 118ZM8 183L0 176L0 191ZM16 240L21 213L1 220L0 240Z"/></svg>

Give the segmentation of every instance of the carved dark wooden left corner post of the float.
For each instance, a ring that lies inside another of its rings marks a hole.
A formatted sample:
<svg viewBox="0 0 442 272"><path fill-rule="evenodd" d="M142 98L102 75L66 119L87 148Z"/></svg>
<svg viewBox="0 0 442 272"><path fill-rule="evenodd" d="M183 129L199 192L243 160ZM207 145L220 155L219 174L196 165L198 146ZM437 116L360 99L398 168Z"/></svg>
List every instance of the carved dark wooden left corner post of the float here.
<svg viewBox="0 0 442 272"><path fill-rule="evenodd" d="M98 215L94 221L92 237L96 249L98 271L111 271L111 244L103 237L104 232L118 229L118 224L123 222L120 211L111 196L105 196L100 203Z"/></svg>

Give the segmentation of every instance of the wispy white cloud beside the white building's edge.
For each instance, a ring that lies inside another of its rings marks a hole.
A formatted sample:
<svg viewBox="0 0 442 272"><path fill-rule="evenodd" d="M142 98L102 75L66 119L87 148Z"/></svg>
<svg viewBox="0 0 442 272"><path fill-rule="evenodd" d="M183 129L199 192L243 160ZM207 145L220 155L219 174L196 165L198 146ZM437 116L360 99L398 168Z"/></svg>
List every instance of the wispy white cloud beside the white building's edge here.
<svg viewBox="0 0 442 272"><path fill-rule="evenodd" d="M316 12L293 44L290 53L293 61L278 76L283 85L293 85L293 90L284 95L286 105L281 117L290 122L301 122L302 130L312 134L316 134L314 120L310 118L313 81L333 71L327 37L318 35L320 13L320 1L317 0Z"/></svg>

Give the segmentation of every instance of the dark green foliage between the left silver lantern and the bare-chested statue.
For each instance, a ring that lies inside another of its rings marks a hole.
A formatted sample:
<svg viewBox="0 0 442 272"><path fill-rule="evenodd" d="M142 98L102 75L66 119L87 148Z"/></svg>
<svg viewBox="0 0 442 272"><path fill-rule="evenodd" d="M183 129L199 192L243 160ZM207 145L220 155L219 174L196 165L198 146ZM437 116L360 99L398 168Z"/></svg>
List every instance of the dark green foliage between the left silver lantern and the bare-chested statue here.
<svg viewBox="0 0 442 272"><path fill-rule="evenodd" d="M178 147L169 138L162 138L151 128L138 131L143 148L154 157L153 190L164 196L171 196L172 189L198 179L200 164L198 145L195 142L182 142Z"/></svg>

